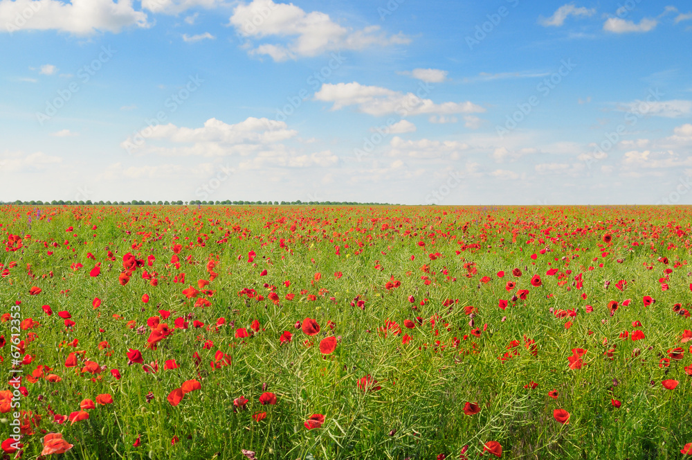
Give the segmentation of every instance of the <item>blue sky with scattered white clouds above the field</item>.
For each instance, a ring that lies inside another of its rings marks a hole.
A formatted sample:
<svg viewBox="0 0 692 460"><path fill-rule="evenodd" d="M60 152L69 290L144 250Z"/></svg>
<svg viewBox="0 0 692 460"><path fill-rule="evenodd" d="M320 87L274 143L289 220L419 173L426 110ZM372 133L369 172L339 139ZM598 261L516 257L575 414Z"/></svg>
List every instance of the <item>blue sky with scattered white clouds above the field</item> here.
<svg viewBox="0 0 692 460"><path fill-rule="evenodd" d="M0 200L692 204L691 57L682 0L0 0Z"/></svg>

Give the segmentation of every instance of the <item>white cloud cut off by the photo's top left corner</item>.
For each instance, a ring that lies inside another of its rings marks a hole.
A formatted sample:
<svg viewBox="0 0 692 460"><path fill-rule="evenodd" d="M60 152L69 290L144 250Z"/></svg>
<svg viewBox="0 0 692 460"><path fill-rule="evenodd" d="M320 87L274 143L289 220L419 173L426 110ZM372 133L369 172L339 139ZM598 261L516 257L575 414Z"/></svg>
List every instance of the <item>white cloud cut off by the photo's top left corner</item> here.
<svg viewBox="0 0 692 460"><path fill-rule="evenodd" d="M14 32L17 15L33 11L26 24L16 30L61 30L75 35L96 31L118 33L129 26L148 27L147 15L132 8L131 0L0 0L0 28Z"/></svg>

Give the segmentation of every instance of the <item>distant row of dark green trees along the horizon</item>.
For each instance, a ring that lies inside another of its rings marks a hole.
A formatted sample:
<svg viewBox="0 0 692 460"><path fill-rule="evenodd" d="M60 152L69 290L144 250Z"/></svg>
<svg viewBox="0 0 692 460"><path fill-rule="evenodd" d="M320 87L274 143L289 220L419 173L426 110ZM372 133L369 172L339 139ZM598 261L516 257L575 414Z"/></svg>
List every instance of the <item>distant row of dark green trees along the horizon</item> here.
<svg viewBox="0 0 692 460"><path fill-rule="evenodd" d="M149 202L149 201L142 201L142 200L132 200L129 202L104 202L104 201L99 201L99 202L92 202L91 200L86 200L86 201L70 201L70 200L53 200L52 202L42 202L42 201L21 201L17 200L15 202L2 202L0 201L0 204L17 204L17 205L25 205L25 206L182 206L182 205L199 205L199 206L230 206L232 204L235 204L237 206L242 206L242 205L249 205L249 204L255 204L255 205L265 205L265 206L291 206L291 205L304 205L304 204L317 204L317 205L329 205L329 206L347 206L347 205L358 205L358 204L366 204L366 205L382 205L382 204L389 204L389 203L359 203L359 202L302 202L300 200L296 200L293 202L251 202L251 201L242 201L242 200L236 200L236 201L231 201L231 200L225 200L225 201L200 201L200 200L192 200L190 202L183 202L182 200L174 201L174 202L167 202L167 201L158 201L158 202Z"/></svg>

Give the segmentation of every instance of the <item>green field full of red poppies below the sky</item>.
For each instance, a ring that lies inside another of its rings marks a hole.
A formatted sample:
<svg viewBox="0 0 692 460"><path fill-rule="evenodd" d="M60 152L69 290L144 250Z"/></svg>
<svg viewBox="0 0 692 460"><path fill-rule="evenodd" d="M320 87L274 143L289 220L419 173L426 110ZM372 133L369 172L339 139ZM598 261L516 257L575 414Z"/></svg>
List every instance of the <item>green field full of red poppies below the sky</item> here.
<svg viewBox="0 0 692 460"><path fill-rule="evenodd" d="M687 207L0 207L3 458L692 458Z"/></svg>

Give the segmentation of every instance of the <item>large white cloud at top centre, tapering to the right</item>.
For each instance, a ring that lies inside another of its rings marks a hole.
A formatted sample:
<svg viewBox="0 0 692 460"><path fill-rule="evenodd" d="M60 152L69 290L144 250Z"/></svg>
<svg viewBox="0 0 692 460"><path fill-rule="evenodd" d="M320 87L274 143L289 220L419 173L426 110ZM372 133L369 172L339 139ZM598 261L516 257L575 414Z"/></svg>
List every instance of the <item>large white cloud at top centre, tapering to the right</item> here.
<svg viewBox="0 0 692 460"><path fill-rule="evenodd" d="M268 55L275 61L313 57L328 51L410 43L403 34L388 36L379 26L352 30L340 26L323 12L308 13L293 3L272 0L240 3L233 10L230 25L248 40L281 39L281 43L263 43L255 48L247 44L251 55Z"/></svg>

